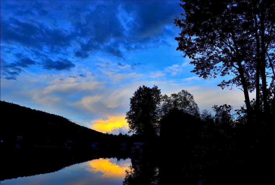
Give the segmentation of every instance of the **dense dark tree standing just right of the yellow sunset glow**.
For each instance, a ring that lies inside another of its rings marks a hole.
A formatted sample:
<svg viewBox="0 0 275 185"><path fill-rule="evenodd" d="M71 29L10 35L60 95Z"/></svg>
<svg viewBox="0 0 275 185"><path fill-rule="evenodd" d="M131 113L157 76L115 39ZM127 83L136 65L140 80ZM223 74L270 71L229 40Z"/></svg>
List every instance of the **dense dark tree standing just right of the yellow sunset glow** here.
<svg viewBox="0 0 275 185"><path fill-rule="evenodd" d="M130 110L126 112L129 133L153 136L159 134L157 106L160 104L161 92L158 86L142 86L130 98Z"/></svg>

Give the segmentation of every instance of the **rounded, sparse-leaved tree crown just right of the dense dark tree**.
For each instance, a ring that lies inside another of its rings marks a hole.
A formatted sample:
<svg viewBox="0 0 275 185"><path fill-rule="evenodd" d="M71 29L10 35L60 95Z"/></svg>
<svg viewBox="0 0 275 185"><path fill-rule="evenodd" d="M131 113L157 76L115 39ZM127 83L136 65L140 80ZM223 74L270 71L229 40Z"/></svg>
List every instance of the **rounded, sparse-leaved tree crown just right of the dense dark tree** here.
<svg viewBox="0 0 275 185"><path fill-rule="evenodd" d="M162 97L162 103L159 107L160 115L163 117L173 109L182 110L193 116L200 117L199 107L193 95L186 90L181 90L178 94L173 93L171 96L165 94Z"/></svg>

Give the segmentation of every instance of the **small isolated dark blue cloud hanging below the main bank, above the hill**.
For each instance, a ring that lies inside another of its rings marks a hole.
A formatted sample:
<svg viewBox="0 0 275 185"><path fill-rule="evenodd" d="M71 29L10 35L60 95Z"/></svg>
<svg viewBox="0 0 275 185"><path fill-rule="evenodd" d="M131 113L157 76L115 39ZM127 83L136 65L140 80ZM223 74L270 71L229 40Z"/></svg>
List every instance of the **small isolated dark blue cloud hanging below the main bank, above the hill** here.
<svg viewBox="0 0 275 185"><path fill-rule="evenodd" d="M59 59L58 61L52 61L51 59L47 59L43 62L43 68L48 70L70 70L70 68L75 67L75 64L73 64L71 61L68 61L67 59Z"/></svg>

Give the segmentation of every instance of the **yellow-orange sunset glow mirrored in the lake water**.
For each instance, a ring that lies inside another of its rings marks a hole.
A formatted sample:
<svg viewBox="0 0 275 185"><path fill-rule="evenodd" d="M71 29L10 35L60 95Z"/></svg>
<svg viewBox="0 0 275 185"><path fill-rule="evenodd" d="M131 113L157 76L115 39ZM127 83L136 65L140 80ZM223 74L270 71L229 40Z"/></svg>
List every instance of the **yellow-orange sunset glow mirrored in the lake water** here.
<svg viewBox="0 0 275 185"><path fill-rule="evenodd" d="M86 168L87 171L93 173L103 173L101 177L112 177L112 178L124 178L125 170L129 167L119 166L112 164L109 159L95 159L89 162L91 168Z"/></svg>

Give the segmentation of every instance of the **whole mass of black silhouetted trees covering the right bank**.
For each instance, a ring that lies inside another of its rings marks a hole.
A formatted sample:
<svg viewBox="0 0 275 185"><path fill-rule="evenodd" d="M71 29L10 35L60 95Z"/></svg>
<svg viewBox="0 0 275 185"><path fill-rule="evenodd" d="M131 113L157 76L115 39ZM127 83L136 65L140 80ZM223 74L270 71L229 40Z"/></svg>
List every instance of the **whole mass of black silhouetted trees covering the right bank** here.
<svg viewBox="0 0 275 185"><path fill-rule="evenodd" d="M217 86L240 89L245 104L231 113L232 106L213 103L212 115L207 110L199 112L195 104L188 110L184 104L188 102L186 95L181 96L184 90L169 97L162 96L157 86L143 86L130 98L131 107L126 114L130 132L148 135L148 130L152 130L153 135L164 138L165 146L169 146L164 156L181 160L177 164L166 163L170 168L164 168L163 173L180 176L187 184L270 184L275 174L275 4L181 2L183 18L174 19L180 29L175 38L177 50L194 65L192 73L209 80L220 76L222 81ZM151 97L144 98L148 92ZM250 97L251 92L256 92L256 97ZM186 119L190 116L184 113L192 114L194 121ZM206 127L201 123L203 129L200 124L195 126L193 123L200 122L195 117L202 119ZM140 122L146 126L140 126ZM164 131L160 131L160 125ZM124 184L134 182L135 169L131 170Z"/></svg>

